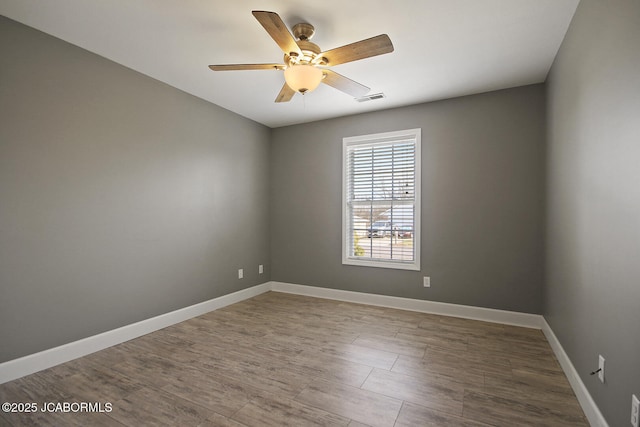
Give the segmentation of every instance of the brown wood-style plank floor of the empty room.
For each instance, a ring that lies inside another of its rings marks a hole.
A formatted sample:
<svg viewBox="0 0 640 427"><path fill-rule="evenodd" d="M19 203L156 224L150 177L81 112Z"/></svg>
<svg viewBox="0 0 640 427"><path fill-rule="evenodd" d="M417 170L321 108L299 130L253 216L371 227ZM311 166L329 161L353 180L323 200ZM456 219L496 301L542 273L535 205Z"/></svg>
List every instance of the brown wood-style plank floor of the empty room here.
<svg viewBox="0 0 640 427"><path fill-rule="evenodd" d="M0 413L11 426L588 425L539 330L275 292L0 385L0 402L112 406Z"/></svg>

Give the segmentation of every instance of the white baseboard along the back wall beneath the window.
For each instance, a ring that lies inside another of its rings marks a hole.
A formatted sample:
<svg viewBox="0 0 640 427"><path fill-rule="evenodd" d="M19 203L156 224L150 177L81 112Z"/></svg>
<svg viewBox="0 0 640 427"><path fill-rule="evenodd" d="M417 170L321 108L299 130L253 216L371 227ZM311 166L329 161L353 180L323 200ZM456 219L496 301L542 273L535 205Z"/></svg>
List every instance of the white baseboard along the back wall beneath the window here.
<svg viewBox="0 0 640 427"><path fill-rule="evenodd" d="M462 317L465 319L522 326L525 328L541 329L543 322L543 318L539 314L518 313L492 308L472 307L468 305L392 297L388 295L367 294L362 292L343 291L339 289L319 288L316 286L295 285L292 283L269 283L271 285L271 290L275 292L285 292L317 298L354 302L358 304L418 311L421 313L440 314L443 316Z"/></svg>

